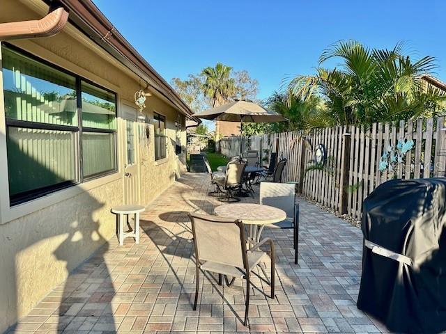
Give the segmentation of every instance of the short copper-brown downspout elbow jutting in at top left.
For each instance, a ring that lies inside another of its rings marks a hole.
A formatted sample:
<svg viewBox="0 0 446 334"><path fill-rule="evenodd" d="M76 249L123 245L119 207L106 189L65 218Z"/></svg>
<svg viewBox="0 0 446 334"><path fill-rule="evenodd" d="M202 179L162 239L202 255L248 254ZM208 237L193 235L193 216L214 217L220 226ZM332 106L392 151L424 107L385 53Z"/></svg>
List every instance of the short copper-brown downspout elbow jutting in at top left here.
<svg viewBox="0 0 446 334"><path fill-rule="evenodd" d="M0 24L0 41L22 38L50 37L56 35L68 22L68 12L63 7L49 13L42 19L30 21L8 22Z"/></svg>

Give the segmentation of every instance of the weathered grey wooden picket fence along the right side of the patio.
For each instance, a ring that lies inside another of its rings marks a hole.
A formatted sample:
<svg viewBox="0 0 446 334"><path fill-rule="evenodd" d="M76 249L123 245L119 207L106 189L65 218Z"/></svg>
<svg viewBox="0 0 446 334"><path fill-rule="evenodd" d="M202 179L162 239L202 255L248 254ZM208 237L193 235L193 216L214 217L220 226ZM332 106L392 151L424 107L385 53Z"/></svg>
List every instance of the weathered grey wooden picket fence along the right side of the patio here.
<svg viewBox="0 0 446 334"><path fill-rule="evenodd" d="M261 164L265 165L268 160L264 157L276 151L278 138L278 158L288 159L283 182L300 181L302 195L338 212L345 200L346 212L360 218L364 198L393 177L445 177L445 130L445 118L439 117L374 123L367 127L339 126L315 130L305 136L301 132L265 134L244 140L249 143L246 148L260 151ZM347 137L348 148L344 145ZM387 147L397 145L399 140L411 139L415 145L397 170L381 172L380 158ZM304 141L310 143L311 150ZM325 168L309 168L314 166L314 150L318 144L325 146ZM218 146L222 154L229 157L240 154L240 145L240 137L229 137L222 138ZM344 153L348 155L344 157Z"/></svg>

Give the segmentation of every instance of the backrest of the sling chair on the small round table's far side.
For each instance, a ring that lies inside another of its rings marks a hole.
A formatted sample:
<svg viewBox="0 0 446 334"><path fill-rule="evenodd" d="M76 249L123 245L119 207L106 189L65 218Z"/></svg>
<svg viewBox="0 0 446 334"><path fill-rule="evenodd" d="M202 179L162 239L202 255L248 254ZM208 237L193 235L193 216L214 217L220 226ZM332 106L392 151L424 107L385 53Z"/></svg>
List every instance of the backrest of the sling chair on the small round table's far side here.
<svg viewBox="0 0 446 334"><path fill-rule="evenodd" d="M294 217L295 184L290 183L260 183L260 204L277 207L286 212L289 218Z"/></svg>

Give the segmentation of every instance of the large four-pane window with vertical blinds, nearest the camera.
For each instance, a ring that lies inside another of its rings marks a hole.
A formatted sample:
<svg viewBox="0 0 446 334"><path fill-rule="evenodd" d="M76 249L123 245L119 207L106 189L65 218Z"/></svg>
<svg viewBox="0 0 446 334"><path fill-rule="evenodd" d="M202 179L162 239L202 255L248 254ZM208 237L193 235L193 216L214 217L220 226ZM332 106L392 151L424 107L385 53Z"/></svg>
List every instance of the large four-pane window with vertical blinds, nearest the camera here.
<svg viewBox="0 0 446 334"><path fill-rule="evenodd" d="M114 93L13 47L1 51L10 204L116 170Z"/></svg>

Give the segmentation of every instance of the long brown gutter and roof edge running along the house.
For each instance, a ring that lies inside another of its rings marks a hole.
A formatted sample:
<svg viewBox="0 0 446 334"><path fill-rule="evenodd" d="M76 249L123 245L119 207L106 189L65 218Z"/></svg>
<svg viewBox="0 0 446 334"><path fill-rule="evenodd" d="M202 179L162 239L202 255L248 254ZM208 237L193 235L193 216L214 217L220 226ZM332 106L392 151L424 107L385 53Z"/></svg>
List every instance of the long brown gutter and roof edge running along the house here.
<svg viewBox="0 0 446 334"><path fill-rule="evenodd" d="M123 35L113 26L91 0L43 0L48 5L61 3L70 13L68 20L93 42L123 63L132 72L144 79L158 93L176 106L188 118L201 122L193 116L190 107L180 98L167 81L138 53Z"/></svg>

